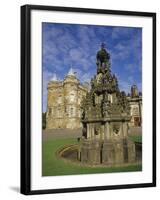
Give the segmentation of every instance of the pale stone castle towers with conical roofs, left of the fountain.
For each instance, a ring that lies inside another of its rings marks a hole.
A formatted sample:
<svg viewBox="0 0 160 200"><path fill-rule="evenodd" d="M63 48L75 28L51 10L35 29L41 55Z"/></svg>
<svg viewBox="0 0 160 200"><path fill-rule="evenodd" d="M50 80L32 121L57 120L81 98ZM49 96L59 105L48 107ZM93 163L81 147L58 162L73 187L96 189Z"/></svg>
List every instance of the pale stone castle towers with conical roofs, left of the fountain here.
<svg viewBox="0 0 160 200"><path fill-rule="evenodd" d="M46 129L80 128L80 104L87 90L72 69L63 81L58 81L54 75L48 83Z"/></svg>

